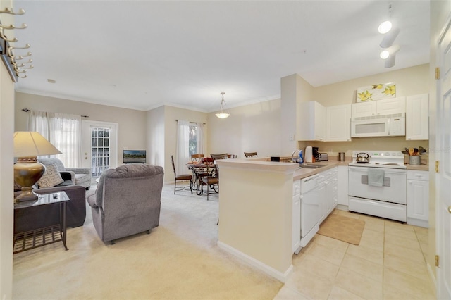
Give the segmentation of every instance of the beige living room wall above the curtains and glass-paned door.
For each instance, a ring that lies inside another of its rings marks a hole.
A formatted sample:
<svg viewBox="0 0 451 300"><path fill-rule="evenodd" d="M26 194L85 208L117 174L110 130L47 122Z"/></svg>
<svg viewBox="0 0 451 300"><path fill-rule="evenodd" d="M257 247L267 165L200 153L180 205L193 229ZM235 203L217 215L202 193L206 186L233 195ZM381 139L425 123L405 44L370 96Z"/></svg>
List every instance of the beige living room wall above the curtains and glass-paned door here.
<svg viewBox="0 0 451 300"><path fill-rule="evenodd" d="M146 149L147 113L49 96L16 92L15 130L27 130L28 108L35 111L89 115L85 120L118 123L118 164L123 161L123 149Z"/></svg>

